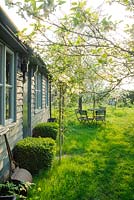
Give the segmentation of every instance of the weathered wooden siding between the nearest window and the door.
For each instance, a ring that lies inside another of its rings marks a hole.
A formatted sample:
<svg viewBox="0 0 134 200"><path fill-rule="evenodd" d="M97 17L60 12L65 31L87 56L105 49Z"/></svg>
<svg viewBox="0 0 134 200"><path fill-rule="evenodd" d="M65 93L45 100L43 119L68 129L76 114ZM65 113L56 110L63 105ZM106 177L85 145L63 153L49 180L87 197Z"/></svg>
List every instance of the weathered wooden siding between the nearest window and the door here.
<svg viewBox="0 0 134 200"><path fill-rule="evenodd" d="M7 135L10 148L13 149L17 141L23 138L23 77L22 73L17 73L16 81L16 122L6 126L0 126L0 180L6 179L9 174L9 160L5 139Z"/></svg>

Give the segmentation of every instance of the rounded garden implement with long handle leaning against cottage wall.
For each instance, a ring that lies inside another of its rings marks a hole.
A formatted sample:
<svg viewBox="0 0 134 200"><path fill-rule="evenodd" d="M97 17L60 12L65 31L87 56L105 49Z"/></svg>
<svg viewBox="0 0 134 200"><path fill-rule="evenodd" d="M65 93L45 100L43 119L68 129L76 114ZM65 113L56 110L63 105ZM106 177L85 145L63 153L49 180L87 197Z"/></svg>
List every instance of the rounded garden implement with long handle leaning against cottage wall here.
<svg viewBox="0 0 134 200"><path fill-rule="evenodd" d="M20 168L18 164L15 162L13 158L13 154L11 152L9 142L7 140L6 134L4 134L8 157L9 157L9 163L10 163L10 180L15 183L32 183L32 175L31 173L23 168Z"/></svg>

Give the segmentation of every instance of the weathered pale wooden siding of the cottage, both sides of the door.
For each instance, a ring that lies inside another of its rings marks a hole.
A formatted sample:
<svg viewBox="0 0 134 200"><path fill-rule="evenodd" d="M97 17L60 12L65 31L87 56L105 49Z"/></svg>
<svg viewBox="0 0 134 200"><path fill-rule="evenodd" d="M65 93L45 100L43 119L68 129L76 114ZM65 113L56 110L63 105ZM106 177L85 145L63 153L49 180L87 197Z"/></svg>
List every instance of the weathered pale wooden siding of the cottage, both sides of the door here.
<svg viewBox="0 0 134 200"><path fill-rule="evenodd" d="M46 106L46 78L42 78L42 109L35 109L35 76L31 84L31 127L39 122L47 122L49 118L49 107ZM5 145L4 135L7 135L11 150L15 144L23 139L23 74L18 71L16 75L16 121L6 125L0 125L0 181L8 178L9 159Z"/></svg>

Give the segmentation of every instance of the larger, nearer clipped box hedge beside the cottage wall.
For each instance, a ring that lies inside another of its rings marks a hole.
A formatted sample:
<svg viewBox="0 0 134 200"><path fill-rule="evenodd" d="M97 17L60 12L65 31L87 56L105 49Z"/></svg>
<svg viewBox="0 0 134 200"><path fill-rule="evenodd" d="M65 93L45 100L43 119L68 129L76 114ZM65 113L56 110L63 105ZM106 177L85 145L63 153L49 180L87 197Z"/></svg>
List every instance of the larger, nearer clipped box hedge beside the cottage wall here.
<svg viewBox="0 0 134 200"><path fill-rule="evenodd" d="M52 138L27 137L16 144L13 155L19 167L36 174L40 169L51 167L55 152L56 145Z"/></svg>

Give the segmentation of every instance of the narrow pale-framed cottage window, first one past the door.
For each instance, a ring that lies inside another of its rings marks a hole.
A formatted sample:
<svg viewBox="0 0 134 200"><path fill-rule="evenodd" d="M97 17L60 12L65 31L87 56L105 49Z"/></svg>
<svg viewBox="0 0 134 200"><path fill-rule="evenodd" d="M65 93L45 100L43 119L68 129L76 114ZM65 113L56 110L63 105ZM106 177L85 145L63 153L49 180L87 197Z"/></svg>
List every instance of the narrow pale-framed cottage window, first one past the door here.
<svg viewBox="0 0 134 200"><path fill-rule="evenodd" d="M35 82L35 109L42 108L42 75L37 72Z"/></svg>

